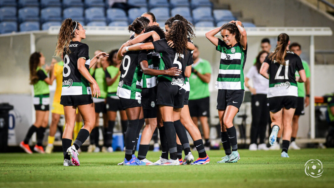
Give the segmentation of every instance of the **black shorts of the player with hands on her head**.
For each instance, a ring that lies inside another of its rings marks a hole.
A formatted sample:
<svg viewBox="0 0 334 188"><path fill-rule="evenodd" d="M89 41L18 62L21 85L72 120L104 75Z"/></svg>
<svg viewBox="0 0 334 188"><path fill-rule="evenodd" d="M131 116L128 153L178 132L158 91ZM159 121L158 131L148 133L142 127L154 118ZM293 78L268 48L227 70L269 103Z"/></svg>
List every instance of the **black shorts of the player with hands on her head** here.
<svg viewBox="0 0 334 188"><path fill-rule="evenodd" d="M243 89L218 89L217 110L226 110L227 106L240 108L243 100Z"/></svg>

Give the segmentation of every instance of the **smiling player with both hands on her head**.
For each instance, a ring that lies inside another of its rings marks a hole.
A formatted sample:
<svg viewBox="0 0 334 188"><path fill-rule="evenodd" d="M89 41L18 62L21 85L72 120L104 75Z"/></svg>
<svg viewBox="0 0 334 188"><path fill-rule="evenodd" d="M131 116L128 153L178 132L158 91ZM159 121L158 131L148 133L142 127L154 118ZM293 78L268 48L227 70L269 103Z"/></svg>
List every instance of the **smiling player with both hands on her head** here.
<svg viewBox="0 0 334 188"><path fill-rule="evenodd" d="M214 36L218 32L223 40ZM218 163L235 163L240 157L233 118L239 111L243 99L243 67L247 54L247 34L241 22L233 20L212 29L205 36L216 46L216 50L221 52L215 87L218 89L217 110L221 124L221 142L226 156Z"/></svg>

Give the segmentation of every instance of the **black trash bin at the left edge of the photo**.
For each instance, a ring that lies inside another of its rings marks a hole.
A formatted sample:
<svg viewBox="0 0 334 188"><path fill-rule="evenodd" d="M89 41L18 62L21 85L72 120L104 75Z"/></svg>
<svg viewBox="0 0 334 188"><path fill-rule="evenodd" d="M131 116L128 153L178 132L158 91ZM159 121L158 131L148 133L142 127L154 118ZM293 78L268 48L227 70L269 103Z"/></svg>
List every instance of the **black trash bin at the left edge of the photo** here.
<svg viewBox="0 0 334 188"><path fill-rule="evenodd" d="M8 103L0 104L0 152L6 152L8 143L8 112L14 107Z"/></svg>

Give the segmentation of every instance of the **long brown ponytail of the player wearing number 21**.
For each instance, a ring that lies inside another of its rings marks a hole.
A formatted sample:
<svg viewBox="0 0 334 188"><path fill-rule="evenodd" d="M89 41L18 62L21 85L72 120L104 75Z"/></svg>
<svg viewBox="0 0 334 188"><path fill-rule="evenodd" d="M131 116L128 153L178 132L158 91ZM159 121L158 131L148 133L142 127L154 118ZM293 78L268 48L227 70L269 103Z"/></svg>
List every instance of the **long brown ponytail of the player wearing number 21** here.
<svg viewBox="0 0 334 188"><path fill-rule="evenodd" d="M276 60L276 62L285 65L285 56L287 54L287 46L289 45L289 35L286 33L281 33L277 37L277 46L273 53L269 55L269 59L272 61Z"/></svg>

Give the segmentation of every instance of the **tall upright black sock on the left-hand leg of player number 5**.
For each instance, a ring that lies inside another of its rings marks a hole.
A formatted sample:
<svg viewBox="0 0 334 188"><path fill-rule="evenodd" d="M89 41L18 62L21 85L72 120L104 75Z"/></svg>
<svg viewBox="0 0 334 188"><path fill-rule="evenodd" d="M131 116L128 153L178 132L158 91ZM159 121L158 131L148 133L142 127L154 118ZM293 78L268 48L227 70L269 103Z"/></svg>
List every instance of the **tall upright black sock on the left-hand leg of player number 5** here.
<svg viewBox="0 0 334 188"><path fill-rule="evenodd" d="M169 150L169 156L173 160L177 160L177 149L176 149L176 132L173 122L163 122L165 127L167 145Z"/></svg>

